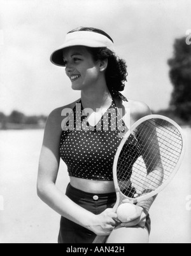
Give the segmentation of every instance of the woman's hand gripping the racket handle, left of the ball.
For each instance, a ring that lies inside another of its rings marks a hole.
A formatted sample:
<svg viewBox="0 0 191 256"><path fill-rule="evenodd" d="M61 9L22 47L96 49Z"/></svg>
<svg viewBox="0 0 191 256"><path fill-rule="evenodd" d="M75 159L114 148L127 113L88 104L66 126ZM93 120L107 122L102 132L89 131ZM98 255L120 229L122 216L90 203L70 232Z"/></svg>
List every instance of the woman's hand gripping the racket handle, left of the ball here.
<svg viewBox="0 0 191 256"><path fill-rule="evenodd" d="M99 215L94 215L94 217L89 229L98 236L109 236L111 231L119 224L117 213L113 211L113 208L108 208Z"/></svg>

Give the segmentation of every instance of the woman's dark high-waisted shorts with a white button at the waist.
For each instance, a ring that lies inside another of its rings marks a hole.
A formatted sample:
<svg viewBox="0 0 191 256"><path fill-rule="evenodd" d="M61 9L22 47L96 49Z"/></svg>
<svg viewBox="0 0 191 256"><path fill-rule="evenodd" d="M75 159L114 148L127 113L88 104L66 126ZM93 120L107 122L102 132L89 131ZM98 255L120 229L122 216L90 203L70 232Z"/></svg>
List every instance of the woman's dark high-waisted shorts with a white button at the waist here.
<svg viewBox="0 0 191 256"><path fill-rule="evenodd" d="M83 192L70 184L66 189L66 196L74 203L91 211L95 215L102 213L107 208L113 208L116 202L116 194L91 194ZM146 218L146 228L150 232L150 218ZM81 225L75 224L67 218L61 217L59 243L92 243L95 239L95 234Z"/></svg>

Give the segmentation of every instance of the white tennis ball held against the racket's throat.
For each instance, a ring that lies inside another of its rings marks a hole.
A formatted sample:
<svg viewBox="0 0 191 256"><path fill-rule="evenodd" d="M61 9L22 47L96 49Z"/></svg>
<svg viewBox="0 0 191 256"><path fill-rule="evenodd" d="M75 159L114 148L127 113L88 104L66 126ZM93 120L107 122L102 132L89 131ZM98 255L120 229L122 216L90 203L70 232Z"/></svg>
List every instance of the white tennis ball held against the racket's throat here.
<svg viewBox="0 0 191 256"><path fill-rule="evenodd" d="M117 217L121 222L127 222L128 218L136 214L136 206L130 203L120 204L117 208Z"/></svg>

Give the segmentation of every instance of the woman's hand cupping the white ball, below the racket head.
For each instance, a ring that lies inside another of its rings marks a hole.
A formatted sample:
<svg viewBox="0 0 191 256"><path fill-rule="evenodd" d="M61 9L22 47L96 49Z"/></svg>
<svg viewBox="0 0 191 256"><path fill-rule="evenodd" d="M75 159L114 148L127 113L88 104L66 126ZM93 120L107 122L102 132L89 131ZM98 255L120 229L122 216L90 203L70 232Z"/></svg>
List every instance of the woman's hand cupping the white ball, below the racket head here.
<svg viewBox="0 0 191 256"><path fill-rule="evenodd" d="M123 203L129 203L129 200L125 199ZM136 213L131 218L127 219L127 222L122 222L122 224L120 224L122 227L133 227L136 225L145 227L146 214L144 213L143 208L136 205L134 206L136 208Z"/></svg>

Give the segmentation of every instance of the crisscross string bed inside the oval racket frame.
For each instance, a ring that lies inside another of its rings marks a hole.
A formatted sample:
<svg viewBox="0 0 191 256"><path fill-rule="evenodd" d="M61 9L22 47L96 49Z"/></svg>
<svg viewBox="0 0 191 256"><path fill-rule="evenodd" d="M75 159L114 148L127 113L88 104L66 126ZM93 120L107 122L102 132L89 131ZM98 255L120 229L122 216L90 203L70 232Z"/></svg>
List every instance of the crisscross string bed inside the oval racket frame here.
<svg viewBox="0 0 191 256"><path fill-rule="evenodd" d="M162 119L146 120L129 138L118 158L117 180L120 191L134 197L148 194L171 176L182 138L176 127Z"/></svg>

